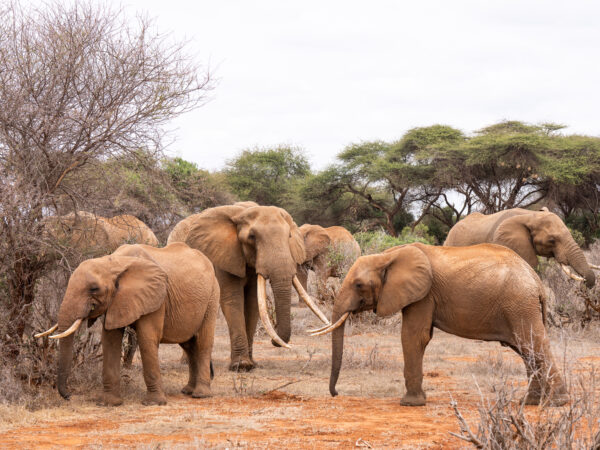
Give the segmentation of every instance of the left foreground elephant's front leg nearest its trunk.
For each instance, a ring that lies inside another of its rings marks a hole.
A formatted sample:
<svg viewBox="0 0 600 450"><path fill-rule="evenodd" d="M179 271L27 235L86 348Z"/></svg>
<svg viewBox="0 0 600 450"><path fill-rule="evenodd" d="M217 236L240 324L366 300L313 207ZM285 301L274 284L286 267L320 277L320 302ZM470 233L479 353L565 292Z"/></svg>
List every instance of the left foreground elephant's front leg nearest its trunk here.
<svg viewBox="0 0 600 450"><path fill-rule="evenodd" d="M118 406L121 398L121 345L123 328L102 330L102 385L101 405Z"/></svg>

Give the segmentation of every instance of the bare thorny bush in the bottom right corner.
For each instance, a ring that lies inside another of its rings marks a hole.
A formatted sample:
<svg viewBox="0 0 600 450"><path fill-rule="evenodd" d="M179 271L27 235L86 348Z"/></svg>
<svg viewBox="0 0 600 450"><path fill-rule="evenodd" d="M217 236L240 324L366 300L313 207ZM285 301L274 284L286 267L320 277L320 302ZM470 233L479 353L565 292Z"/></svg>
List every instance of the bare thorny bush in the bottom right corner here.
<svg viewBox="0 0 600 450"><path fill-rule="evenodd" d="M540 406L526 407L523 387L515 384L509 371L504 371L492 386L494 394L491 397L486 397L479 389L476 431L462 415L458 402L451 400L460 428L459 433L451 434L476 448L494 450L600 448L598 374L593 366L574 370L574 363L567 355L567 342L563 340L561 372L570 398L568 404L551 407L542 401ZM526 364L533 369L532 361L526 361ZM533 371L525 389L529 388L535 375Z"/></svg>

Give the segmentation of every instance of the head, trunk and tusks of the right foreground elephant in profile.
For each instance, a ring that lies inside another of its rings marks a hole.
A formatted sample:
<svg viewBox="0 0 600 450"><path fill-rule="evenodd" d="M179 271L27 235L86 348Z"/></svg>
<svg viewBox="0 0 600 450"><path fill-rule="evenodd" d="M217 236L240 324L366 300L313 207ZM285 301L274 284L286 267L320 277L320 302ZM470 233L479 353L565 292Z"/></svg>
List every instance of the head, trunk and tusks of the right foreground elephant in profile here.
<svg viewBox="0 0 600 450"><path fill-rule="evenodd" d="M433 274L429 258L417 246L394 247L385 253L361 256L350 268L333 305L333 325L313 335L333 332L329 392L337 395L344 351L344 323L353 312L373 310L379 316L401 311L430 291Z"/></svg>

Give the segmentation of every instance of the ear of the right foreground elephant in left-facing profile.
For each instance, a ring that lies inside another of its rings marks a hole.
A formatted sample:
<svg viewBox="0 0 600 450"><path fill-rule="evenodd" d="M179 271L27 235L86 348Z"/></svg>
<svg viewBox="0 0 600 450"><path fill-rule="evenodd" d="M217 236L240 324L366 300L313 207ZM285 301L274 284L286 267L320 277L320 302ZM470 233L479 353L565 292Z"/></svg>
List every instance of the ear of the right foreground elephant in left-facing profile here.
<svg viewBox="0 0 600 450"><path fill-rule="evenodd" d="M385 273L377 302L378 316L394 314L429 293L433 280L431 264L417 247L401 247L381 258Z"/></svg>

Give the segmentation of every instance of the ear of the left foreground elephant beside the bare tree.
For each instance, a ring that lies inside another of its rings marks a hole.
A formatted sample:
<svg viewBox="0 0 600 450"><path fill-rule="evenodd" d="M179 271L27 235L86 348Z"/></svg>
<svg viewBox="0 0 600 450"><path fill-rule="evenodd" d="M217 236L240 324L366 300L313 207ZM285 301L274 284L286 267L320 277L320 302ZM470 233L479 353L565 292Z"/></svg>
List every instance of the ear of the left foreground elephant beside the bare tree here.
<svg viewBox="0 0 600 450"><path fill-rule="evenodd" d="M154 261L111 256L115 291L106 311L104 328L123 328L159 309L167 299L167 274Z"/></svg>

